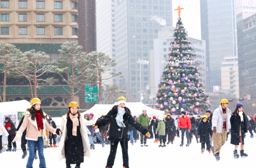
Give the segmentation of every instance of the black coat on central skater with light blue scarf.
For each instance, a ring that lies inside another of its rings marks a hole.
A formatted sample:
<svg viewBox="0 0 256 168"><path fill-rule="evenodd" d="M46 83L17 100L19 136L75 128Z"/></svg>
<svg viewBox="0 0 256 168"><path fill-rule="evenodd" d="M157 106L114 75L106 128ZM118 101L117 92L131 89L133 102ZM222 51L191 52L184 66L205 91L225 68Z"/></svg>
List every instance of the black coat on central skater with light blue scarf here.
<svg viewBox="0 0 256 168"><path fill-rule="evenodd" d="M136 130L141 132L143 135L146 135L148 130L141 126L138 121L136 121L130 113L130 110L125 107L125 114L123 115L123 123L125 127L119 127L116 123L116 115L117 115L117 106L114 106L107 115L100 118L100 120L97 120L96 126L99 128L102 126L105 126L110 122L110 128L109 128L109 140L110 141L129 141L128 137L128 127L129 124L134 127Z"/></svg>

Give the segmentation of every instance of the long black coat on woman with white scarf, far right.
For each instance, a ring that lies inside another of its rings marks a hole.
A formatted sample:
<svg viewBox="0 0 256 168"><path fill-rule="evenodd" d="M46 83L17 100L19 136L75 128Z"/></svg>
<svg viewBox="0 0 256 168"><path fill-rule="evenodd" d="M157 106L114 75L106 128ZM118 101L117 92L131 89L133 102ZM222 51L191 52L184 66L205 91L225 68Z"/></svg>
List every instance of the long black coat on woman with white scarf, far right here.
<svg viewBox="0 0 256 168"><path fill-rule="evenodd" d="M238 113L232 113L230 117L231 124L231 141L230 143L233 145L239 145L240 143L240 125L241 125L241 136L242 136L242 145L244 145L244 133L247 132L246 129L246 120L245 115L243 115L243 121L241 122L241 117Z"/></svg>

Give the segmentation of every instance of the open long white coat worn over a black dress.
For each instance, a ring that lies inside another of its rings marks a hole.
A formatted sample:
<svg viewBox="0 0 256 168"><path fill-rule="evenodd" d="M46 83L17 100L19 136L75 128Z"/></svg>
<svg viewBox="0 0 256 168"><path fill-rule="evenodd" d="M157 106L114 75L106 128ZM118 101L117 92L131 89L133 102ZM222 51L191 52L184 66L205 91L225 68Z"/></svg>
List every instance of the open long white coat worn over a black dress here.
<svg viewBox="0 0 256 168"><path fill-rule="evenodd" d="M96 123L96 120L86 120L82 116L80 116L80 132L82 135L83 148L84 148L84 156L90 157L90 143L87 135L87 131L85 126L90 126ZM62 132L62 137L60 139L59 144L59 160L61 161L65 158L65 139L67 137L67 114L62 116L61 124L59 126L60 131ZM78 131L78 130L77 130ZM75 149L74 149L75 150Z"/></svg>

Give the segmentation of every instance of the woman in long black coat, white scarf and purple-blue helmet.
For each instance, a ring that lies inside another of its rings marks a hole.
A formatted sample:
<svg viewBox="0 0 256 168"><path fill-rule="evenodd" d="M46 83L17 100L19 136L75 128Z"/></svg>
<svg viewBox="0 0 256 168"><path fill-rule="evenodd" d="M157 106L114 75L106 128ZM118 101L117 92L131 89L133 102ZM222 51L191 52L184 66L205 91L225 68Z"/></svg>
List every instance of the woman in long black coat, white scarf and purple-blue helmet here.
<svg viewBox="0 0 256 168"><path fill-rule="evenodd" d="M235 146L234 157L238 158L239 154L237 154L237 148L239 143L241 143L240 155L248 156L244 153L244 134L247 132L246 128L246 120L245 113L243 111L243 104L238 103L236 110L232 113L230 117L231 124L231 144Z"/></svg>

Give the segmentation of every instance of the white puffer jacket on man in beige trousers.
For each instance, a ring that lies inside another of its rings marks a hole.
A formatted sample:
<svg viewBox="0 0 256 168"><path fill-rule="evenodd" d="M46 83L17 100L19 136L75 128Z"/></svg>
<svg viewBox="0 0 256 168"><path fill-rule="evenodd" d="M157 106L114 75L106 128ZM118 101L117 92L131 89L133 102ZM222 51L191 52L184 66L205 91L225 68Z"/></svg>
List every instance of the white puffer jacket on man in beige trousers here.
<svg viewBox="0 0 256 168"><path fill-rule="evenodd" d="M213 127L216 127L216 132L217 133L222 133L222 127L223 127L223 115L222 115L222 107L219 105L217 109L214 110L213 115L212 115L212 130ZM226 131L229 132L229 129L231 129L230 125L230 117L229 117L229 109L226 108L226 114L227 114L227 119L226 119Z"/></svg>

